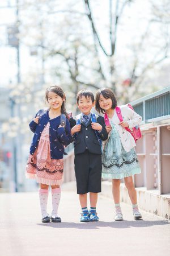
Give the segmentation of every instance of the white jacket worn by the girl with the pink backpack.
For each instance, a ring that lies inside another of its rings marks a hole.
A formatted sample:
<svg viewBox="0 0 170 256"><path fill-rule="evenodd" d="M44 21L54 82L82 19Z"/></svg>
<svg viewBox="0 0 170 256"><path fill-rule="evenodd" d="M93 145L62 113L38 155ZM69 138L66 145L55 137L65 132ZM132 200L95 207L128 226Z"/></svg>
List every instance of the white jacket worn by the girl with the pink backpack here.
<svg viewBox="0 0 170 256"><path fill-rule="evenodd" d="M125 122L128 122L129 128L133 128L142 121L141 115L138 115L134 110L130 109L127 105L120 106L122 118ZM116 110L114 110L114 115L112 119L109 118L109 121L113 122L114 125L117 128L118 134L121 139L122 146L126 150L126 152L129 152L131 148L136 146L135 140L132 137L132 135L129 133L129 131L126 131L125 128L122 128L120 123L120 119L117 116Z"/></svg>

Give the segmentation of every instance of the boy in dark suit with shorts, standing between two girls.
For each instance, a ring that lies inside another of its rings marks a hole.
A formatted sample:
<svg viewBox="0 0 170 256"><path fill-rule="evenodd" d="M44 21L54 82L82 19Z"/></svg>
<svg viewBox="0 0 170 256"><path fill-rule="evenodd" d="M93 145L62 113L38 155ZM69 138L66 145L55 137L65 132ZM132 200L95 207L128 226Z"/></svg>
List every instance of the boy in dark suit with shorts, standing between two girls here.
<svg viewBox="0 0 170 256"><path fill-rule="evenodd" d="M71 134L74 136L75 177L82 213L80 221L99 221L96 213L97 193L101 192L101 140L108 138L104 118L91 114L95 105L94 94L80 90L76 104L81 112L76 119L70 118ZM96 122L94 122L96 118ZM90 192L90 212L87 193Z"/></svg>

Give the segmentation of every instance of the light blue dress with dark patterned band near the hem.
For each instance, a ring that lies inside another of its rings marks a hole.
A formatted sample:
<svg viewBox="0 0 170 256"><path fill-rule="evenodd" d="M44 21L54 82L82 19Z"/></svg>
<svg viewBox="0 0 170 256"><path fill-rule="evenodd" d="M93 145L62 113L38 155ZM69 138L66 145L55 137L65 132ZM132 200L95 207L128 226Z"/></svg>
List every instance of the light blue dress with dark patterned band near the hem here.
<svg viewBox="0 0 170 256"><path fill-rule="evenodd" d="M112 123L111 135L102 154L102 178L123 179L134 174L141 174L135 148L129 152L125 151L118 131Z"/></svg>

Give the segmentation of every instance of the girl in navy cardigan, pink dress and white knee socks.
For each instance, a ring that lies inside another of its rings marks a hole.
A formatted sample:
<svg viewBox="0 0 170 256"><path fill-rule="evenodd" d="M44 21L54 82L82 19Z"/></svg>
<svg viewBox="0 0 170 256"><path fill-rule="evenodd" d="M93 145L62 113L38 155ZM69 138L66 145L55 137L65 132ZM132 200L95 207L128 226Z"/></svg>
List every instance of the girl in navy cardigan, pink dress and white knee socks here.
<svg viewBox="0 0 170 256"><path fill-rule="evenodd" d="M26 177L40 183L40 207L42 222L61 222L58 205L61 196L60 185L63 180L64 146L70 144L72 136L70 123L66 118L66 96L59 86L50 86L45 92L49 109L39 110L29 123L34 133L30 155L27 161ZM62 123L61 123L62 122ZM52 187L52 214L47 213L48 187Z"/></svg>

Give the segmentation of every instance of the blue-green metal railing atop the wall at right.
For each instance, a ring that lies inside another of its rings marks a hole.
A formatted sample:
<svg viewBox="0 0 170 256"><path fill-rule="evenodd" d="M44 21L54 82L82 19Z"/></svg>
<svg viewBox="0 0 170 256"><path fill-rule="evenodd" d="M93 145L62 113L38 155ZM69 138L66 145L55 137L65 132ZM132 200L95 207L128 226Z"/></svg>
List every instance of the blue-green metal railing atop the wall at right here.
<svg viewBox="0 0 170 256"><path fill-rule="evenodd" d="M170 86L146 97L132 101L135 112L142 116L143 122L156 122L170 118Z"/></svg>

